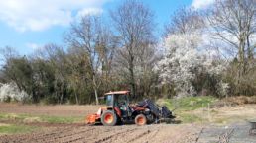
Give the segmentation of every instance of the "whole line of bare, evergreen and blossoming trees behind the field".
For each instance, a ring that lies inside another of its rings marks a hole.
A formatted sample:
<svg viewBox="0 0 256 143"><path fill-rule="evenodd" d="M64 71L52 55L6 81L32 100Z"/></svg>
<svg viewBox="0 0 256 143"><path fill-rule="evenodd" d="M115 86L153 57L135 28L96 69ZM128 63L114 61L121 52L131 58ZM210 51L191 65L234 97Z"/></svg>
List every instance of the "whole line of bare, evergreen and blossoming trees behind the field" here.
<svg viewBox="0 0 256 143"><path fill-rule="evenodd" d="M135 100L256 94L254 0L180 8L161 39L157 32L154 12L126 0L105 17L72 23L63 46L49 43L26 56L2 48L0 100L10 101L14 87L27 93L25 102L49 104L97 104L110 90L130 90Z"/></svg>

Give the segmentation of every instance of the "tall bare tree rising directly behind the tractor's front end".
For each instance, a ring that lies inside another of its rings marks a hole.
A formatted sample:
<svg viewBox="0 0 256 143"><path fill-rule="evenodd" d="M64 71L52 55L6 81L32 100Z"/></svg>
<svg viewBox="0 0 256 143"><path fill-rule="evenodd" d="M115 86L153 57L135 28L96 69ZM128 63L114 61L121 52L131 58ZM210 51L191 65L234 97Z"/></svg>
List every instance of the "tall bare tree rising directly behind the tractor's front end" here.
<svg viewBox="0 0 256 143"><path fill-rule="evenodd" d="M121 49L118 54L127 69L127 80L131 94L136 95L135 64L139 50L154 42L154 21L152 11L136 0L126 0L115 11L111 11L114 27L118 32Z"/></svg>

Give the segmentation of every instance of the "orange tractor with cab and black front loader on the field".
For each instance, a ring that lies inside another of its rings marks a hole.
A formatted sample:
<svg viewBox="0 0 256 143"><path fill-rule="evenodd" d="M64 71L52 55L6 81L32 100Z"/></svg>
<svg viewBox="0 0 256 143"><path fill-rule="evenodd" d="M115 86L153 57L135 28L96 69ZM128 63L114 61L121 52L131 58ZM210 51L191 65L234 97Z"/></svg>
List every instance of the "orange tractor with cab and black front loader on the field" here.
<svg viewBox="0 0 256 143"><path fill-rule="evenodd" d="M114 126L117 123L135 122L137 125L145 125L175 118L167 107L158 107L151 100L130 105L129 91L109 92L103 99L106 106L100 107L97 113L87 116L87 124L101 123Z"/></svg>

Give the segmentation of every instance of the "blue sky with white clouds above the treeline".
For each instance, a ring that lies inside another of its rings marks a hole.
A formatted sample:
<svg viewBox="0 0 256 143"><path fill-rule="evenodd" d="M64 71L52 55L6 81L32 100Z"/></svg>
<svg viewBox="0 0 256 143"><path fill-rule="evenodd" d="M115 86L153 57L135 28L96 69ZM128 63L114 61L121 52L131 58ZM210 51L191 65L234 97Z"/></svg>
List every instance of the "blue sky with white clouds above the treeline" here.
<svg viewBox="0 0 256 143"><path fill-rule="evenodd" d="M155 13L158 34L179 7L202 8L213 0L141 0ZM47 43L63 44L64 32L78 16L107 15L122 0L0 0L0 47L22 54Z"/></svg>

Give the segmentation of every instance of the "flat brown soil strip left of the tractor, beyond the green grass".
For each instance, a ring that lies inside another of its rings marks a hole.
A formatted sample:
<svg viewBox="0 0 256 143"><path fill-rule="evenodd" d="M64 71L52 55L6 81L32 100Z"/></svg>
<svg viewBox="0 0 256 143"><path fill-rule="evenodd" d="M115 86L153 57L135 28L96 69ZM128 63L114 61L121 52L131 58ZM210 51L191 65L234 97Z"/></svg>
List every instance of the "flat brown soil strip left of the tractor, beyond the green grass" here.
<svg viewBox="0 0 256 143"><path fill-rule="evenodd" d="M99 106L37 106L0 103L0 112L50 116L84 116L97 111Z"/></svg>

